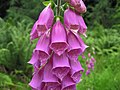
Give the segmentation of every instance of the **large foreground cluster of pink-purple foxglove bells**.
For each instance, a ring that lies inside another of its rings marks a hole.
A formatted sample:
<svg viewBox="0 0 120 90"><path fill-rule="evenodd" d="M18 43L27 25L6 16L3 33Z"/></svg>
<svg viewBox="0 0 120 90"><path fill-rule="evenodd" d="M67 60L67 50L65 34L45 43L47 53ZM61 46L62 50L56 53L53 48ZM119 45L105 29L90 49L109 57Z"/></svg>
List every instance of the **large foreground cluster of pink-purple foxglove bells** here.
<svg viewBox="0 0 120 90"><path fill-rule="evenodd" d="M78 56L88 46L80 37L86 36L87 26L78 12L84 13L86 7L82 0L69 0L69 4L75 10L65 10L64 25L59 18L53 23L54 12L49 4L32 28L30 39L39 39L28 62L34 67L29 83L32 90L76 90L81 80L84 69Z"/></svg>

